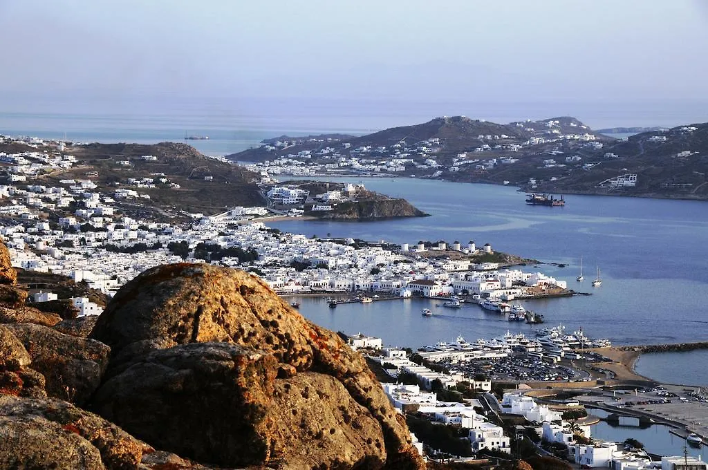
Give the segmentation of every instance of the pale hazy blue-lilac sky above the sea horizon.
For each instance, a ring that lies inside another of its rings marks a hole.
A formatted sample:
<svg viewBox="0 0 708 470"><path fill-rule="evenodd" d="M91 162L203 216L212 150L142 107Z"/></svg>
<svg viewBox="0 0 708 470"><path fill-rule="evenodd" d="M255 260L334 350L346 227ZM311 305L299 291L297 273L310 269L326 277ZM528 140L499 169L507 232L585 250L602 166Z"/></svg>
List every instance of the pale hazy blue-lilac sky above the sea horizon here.
<svg viewBox="0 0 708 470"><path fill-rule="evenodd" d="M708 102L706 0L0 0L0 44L17 113Z"/></svg>

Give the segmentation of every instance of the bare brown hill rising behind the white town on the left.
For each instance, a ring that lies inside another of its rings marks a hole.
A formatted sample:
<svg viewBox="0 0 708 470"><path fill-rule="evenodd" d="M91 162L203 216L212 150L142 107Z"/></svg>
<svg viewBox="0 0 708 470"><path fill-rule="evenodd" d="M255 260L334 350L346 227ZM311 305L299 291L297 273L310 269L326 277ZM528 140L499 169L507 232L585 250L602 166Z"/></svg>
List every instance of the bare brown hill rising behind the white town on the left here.
<svg viewBox="0 0 708 470"><path fill-rule="evenodd" d="M147 200L122 204L125 214L144 218L175 217L181 211L215 214L224 207L265 205L258 185L259 177L245 168L210 159L187 144L87 144L67 147L64 154L77 159L74 168L42 176L37 184L59 185L67 178L91 179L98 190L113 193L117 189L136 190L129 179L149 178L154 187L141 187ZM146 160L142 156L155 156ZM126 163L127 162L127 163ZM87 177L92 172L98 176ZM173 222L173 219L170 220Z"/></svg>

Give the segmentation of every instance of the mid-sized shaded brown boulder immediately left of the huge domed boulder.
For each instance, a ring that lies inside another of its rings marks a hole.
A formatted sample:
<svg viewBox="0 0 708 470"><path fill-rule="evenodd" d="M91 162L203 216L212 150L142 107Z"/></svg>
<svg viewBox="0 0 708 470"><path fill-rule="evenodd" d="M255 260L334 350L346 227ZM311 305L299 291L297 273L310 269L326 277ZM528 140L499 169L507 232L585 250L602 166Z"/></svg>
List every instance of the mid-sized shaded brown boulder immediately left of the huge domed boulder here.
<svg viewBox="0 0 708 470"><path fill-rule="evenodd" d="M8 323L5 327L29 352L30 367L45 376L49 396L81 404L101 384L110 354L103 343L33 323Z"/></svg>

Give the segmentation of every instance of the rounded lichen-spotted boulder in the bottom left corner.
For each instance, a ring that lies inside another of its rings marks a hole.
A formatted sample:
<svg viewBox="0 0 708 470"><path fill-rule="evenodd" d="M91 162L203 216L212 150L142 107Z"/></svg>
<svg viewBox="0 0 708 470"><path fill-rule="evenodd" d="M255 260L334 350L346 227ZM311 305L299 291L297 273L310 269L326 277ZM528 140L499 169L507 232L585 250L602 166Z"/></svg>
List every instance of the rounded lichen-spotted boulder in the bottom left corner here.
<svg viewBox="0 0 708 470"><path fill-rule="evenodd" d="M64 401L0 396L0 468L137 469L152 450Z"/></svg>

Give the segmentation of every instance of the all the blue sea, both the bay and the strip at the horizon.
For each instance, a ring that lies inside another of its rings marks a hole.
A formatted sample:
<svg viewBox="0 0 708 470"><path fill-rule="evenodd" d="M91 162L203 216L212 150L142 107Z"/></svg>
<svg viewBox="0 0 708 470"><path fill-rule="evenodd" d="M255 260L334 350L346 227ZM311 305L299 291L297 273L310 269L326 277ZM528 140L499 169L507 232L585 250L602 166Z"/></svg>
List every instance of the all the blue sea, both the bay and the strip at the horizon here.
<svg viewBox="0 0 708 470"><path fill-rule="evenodd" d="M486 117L495 122L523 118L520 110L508 106L484 109ZM621 114L618 122L617 115L598 109L588 108L589 116L572 114L596 128L708 120L697 118L695 110L682 114L673 108L656 108L641 109L634 116ZM77 142L187 142L205 154L224 155L281 134L365 134L396 123L423 122L435 116L432 110L424 109L427 117L420 110L399 108L386 115L376 114L362 104L341 113L331 108L309 108L299 114L273 117L263 113L198 112L198 108L164 113L131 113L125 109L121 113L5 112L0 113L0 134L66 137ZM324 117L315 117L320 111ZM571 114L554 111L544 108L535 111L539 115L528 116ZM656 115L656 120L650 120L651 115ZM210 138L185 141L185 135ZM708 340L708 202L566 195L565 207L537 207L525 205L525 195L508 186L419 178L326 179L361 181L371 190L405 197L430 217L377 222L295 219L270 225L307 236L392 243L441 239L463 244L474 240L478 246L491 243L495 250L542 262L523 269L566 280L574 290L591 294L522 302L544 314L544 326L563 325L569 333L582 328L590 338L608 338L617 345ZM578 283L575 278L581 258L585 281ZM593 288L590 281L598 271L603 284ZM457 336L468 340L492 338L506 331L533 336L538 328L504 321L473 304L455 310L435 300L408 299L329 309L322 299L298 300L302 314L321 326L380 336L387 345L411 348L451 341ZM432 309L433 316L423 317L423 308ZM708 351L699 350L643 355L636 370L663 382L708 385L705 365Z"/></svg>

